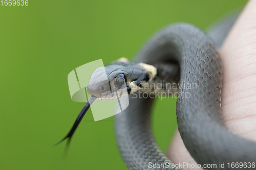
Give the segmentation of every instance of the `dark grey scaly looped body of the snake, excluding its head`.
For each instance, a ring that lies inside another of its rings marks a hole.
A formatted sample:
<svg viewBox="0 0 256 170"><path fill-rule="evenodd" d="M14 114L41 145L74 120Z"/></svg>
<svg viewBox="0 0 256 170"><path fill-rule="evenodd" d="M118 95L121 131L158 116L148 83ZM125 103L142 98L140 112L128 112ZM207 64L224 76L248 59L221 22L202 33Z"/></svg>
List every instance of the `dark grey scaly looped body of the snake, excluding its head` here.
<svg viewBox="0 0 256 170"><path fill-rule="evenodd" d="M144 45L135 62L156 66L158 77L167 79L173 71L168 65L179 65L179 83L198 85L193 89L180 86L179 93L188 92L190 98L179 95L176 110L179 132L197 163L216 163L217 169L223 169L219 167L220 162L256 161L256 144L235 135L223 124L222 65L217 46L206 33L185 23L167 26ZM161 69L163 67L167 70ZM154 99L129 98L128 108L117 114L115 121L117 143L127 167L179 169L177 166L148 167L150 162L172 162L160 151L152 134L151 111ZM164 133L168 133L168 130ZM224 169L243 168L225 166Z"/></svg>

